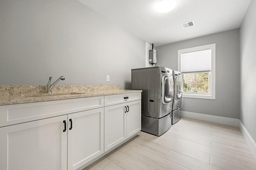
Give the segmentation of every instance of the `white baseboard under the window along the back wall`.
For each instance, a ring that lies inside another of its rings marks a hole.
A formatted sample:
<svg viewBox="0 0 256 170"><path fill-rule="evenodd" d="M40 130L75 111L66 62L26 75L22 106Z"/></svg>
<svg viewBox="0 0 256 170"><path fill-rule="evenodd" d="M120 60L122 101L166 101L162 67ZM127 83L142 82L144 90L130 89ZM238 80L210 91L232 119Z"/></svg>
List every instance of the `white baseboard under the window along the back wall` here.
<svg viewBox="0 0 256 170"><path fill-rule="evenodd" d="M239 119L234 119L230 117L222 117L222 116L215 116L215 115L206 115L202 113L195 113L190 111L181 111L182 117L188 117L192 119L198 119L203 121L210 121L214 123L220 123L224 125L231 125L238 127Z"/></svg>

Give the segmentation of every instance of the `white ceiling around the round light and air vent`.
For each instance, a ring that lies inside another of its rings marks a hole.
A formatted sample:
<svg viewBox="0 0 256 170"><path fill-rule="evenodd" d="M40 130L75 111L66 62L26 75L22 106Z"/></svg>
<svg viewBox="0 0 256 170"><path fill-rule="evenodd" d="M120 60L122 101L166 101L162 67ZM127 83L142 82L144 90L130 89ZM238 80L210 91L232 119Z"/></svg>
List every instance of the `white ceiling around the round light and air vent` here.
<svg viewBox="0 0 256 170"><path fill-rule="evenodd" d="M155 46L239 28L250 0L177 0L158 13L160 0L79 0L126 31ZM194 21L183 28L182 23Z"/></svg>

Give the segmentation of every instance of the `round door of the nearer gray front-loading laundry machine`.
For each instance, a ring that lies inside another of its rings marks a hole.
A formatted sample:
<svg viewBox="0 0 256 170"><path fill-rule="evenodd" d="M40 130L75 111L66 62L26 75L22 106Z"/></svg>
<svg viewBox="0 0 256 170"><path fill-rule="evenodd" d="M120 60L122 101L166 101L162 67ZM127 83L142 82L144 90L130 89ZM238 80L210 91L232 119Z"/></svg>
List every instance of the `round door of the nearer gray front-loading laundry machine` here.
<svg viewBox="0 0 256 170"><path fill-rule="evenodd" d="M170 75L162 76L162 103L172 102L174 95L173 77Z"/></svg>

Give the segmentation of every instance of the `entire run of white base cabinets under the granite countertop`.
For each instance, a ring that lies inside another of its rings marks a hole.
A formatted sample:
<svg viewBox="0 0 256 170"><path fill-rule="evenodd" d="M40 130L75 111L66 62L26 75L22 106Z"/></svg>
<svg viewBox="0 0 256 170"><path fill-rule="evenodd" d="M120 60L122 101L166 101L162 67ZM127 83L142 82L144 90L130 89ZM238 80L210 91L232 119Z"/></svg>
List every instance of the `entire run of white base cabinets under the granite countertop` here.
<svg viewBox="0 0 256 170"><path fill-rule="evenodd" d="M0 106L0 170L79 169L140 122L140 92Z"/></svg>

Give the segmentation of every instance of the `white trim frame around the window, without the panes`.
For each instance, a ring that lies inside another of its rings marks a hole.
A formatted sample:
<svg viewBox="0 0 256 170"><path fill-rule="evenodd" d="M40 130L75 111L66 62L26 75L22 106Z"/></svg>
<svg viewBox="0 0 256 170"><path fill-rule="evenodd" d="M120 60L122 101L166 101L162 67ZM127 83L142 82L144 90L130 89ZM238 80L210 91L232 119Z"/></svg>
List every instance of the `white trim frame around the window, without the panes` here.
<svg viewBox="0 0 256 170"><path fill-rule="evenodd" d="M215 100L215 86L216 86L216 44L202 45L198 47L192 47L188 49L178 50L178 71L181 71L181 54L191 53L195 51L202 51L204 49L211 49L211 72L210 72L210 94L195 94L195 93L183 93L184 98L198 98L198 99L211 99Z"/></svg>

